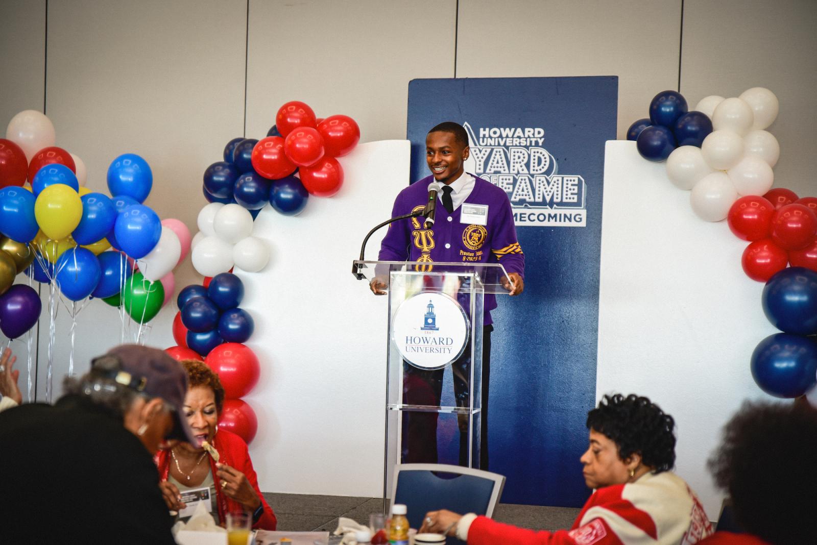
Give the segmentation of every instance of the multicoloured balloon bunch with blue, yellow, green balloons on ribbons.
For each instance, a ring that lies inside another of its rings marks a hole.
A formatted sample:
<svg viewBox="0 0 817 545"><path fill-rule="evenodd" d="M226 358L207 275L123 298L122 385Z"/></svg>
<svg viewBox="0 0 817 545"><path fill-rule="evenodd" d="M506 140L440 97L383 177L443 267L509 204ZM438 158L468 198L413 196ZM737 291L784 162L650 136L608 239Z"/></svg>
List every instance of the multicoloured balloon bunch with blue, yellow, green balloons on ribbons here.
<svg viewBox="0 0 817 545"><path fill-rule="evenodd" d="M0 139L0 293L6 292L0 300L0 329L9 339L30 330L42 310L31 281L47 284L47 401L59 304L72 317L69 374L73 374L76 317L88 300L100 298L118 306L123 338L127 315L138 324L135 340L142 342L143 326L172 295L172 269L190 249L184 224L177 219L160 221L142 204L153 186L144 158L125 153L114 159L107 172L112 198L85 188L84 163L55 142L51 121L33 110L13 117L7 138ZM11 286L24 270L29 285ZM29 361L30 357L29 336ZM30 376L29 369L29 381ZM30 393L29 386L29 399Z"/></svg>

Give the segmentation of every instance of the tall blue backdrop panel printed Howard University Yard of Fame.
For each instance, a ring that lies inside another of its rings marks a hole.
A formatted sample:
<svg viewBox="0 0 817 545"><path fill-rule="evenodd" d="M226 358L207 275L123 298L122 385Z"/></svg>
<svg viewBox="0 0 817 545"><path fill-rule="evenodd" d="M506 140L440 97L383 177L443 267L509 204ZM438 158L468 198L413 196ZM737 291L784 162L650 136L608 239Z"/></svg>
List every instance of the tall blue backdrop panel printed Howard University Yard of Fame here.
<svg viewBox="0 0 817 545"><path fill-rule="evenodd" d="M525 293L492 312L490 469L507 476L506 503L578 507L589 494L578 459L596 400L604 149L617 102L611 76L408 85L411 179L429 174L428 130L463 124L466 170L507 191L525 251Z"/></svg>

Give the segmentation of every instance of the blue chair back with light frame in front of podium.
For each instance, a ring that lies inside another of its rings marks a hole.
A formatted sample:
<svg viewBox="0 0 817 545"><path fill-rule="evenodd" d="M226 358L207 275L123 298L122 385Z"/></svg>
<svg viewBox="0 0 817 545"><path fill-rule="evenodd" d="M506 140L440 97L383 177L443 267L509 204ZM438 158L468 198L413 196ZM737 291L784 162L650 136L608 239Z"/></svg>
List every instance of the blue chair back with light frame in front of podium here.
<svg viewBox="0 0 817 545"><path fill-rule="evenodd" d="M404 503L409 525L419 529L426 512L438 509L493 516L505 476L442 463L399 463L393 482L391 505Z"/></svg>

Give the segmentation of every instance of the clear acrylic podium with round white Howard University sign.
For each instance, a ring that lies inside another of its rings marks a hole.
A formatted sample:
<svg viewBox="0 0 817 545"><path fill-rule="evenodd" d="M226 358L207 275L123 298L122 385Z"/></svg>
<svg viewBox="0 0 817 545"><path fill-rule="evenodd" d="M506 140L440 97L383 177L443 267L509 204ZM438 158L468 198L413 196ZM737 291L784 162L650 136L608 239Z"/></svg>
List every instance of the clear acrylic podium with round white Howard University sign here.
<svg viewBox="0 0 817 545"><path fill-rule="evenodd" d="M417 461L409 453L423 445L411 444L412 430L430 418L434 429L436 419L449 418L456 421L453 429L458 436L464 437L467 430L467 454L461 444L461 458L466 456L467 467L479 467L483 299L485 294L508 294L505 286L511 281L505 268L358 260L355 270L359 278L376 278L388 292L383 498L391 496L395 464ZM439 370L457 381L459 393L453 402L450 396L441 401L439 393L427 392L427 384L416 379Z"/></svg>

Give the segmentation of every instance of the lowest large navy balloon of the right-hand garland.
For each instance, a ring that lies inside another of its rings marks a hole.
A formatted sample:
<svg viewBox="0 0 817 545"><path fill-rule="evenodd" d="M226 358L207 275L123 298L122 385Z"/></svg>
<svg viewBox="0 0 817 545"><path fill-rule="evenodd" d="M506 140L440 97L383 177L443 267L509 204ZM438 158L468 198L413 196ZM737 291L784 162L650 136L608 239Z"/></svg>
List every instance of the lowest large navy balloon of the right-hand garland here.
<svg viewBox="0 0 817 545"><path fill-rule="evenodd" d="M817 343L788 333L775 333L752 352L752 378L775 397L800 397L817 382Z"/></svg>

